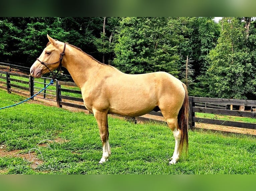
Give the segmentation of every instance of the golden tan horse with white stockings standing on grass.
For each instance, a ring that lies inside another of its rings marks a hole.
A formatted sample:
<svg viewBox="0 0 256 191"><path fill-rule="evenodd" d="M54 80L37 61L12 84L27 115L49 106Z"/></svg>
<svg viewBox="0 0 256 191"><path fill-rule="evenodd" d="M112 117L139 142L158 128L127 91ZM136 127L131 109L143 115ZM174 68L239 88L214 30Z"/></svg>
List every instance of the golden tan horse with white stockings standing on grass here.
<svg viewBox="0 0 256 191"><path fill-rule="evenodd" d="M81 89L85 107L97 120L103 154L99 164L111 155L108 114L136 117L161 111L175 138L169 164L175 164L188 150L188 93L185 84L166 72L125 74L103 64L74 45L49 40L30 68L34 78L65 67ZM60 57L60 58L59 58ZM53 73L52 73L53 74Z"/></svg>

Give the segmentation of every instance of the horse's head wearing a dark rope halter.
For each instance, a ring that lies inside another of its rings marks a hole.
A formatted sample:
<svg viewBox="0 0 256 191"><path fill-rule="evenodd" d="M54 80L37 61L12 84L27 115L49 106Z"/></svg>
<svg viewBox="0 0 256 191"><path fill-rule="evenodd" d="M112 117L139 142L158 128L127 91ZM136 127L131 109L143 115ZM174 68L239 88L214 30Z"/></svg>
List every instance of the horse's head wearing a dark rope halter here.
<svg viewBox="0 0 256 191"><path fill-rule="evenodd" d="M30 68L32 77L40 78L45 73L52 73L61 64L66 45L54 40L48 35L47 38L49 39L49 43Z"/></svg>

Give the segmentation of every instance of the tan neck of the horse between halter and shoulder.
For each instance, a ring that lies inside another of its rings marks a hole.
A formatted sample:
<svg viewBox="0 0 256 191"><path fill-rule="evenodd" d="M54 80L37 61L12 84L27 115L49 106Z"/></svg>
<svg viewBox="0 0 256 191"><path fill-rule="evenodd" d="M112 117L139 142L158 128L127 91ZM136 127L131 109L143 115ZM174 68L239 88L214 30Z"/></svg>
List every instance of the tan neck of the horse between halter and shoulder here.
<svg viewBox="0 0 256 191"><path fill-rule="evenodd" d="M87 54L73 49L69 49L67 53L65 52L67 57L62 66L69 71L74 82L81 89L89 79L95 78L97 72L104 65L98 63Z"/></svg>

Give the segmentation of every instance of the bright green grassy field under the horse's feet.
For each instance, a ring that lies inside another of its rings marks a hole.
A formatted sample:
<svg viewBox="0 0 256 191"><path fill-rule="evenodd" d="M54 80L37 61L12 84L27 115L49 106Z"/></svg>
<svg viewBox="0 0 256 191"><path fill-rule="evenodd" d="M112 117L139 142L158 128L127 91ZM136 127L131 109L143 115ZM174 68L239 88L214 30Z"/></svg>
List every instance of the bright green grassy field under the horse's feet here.
<svg viewBox="0 0 256 191"><path fill-rule="evenodd" d="M0 107L23 99L0 90ZM187 157L182 155L176 165L169 166L174 138L168 127L109 117L109 131L112 155L107 163L98 165L102 146L93 115L30 102L0 110L0 173L256 173L254 136L189 131ZM42 140L44 144L39 144ZM12 151L18 155L7 154ZM24 157L29 152L37 162Z"/></svg>

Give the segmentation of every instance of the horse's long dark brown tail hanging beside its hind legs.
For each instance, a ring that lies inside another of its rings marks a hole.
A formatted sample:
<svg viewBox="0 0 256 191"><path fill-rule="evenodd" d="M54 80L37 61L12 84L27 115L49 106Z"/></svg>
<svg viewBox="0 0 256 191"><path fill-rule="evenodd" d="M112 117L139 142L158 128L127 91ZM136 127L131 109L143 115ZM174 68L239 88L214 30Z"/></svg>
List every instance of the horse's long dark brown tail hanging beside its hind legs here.
<svg viewBox="0 0 256 191"><path fill-rule="evenodd" d="M185 90L185 98L183 101L183 104L179 110L178 114L178 124L179 128L181 130L181 138L180 138L180 145L179 145L179 152L181 153L183 148L187 155L188 150L188 113L189 113L189 103L188 103L188 93L186 85L183 84L184 90Z"/></svg>

